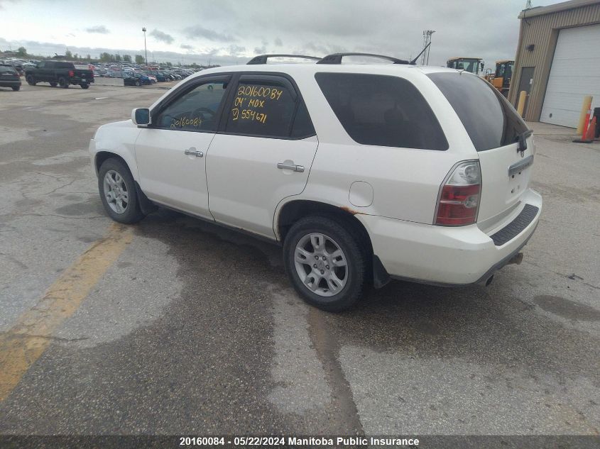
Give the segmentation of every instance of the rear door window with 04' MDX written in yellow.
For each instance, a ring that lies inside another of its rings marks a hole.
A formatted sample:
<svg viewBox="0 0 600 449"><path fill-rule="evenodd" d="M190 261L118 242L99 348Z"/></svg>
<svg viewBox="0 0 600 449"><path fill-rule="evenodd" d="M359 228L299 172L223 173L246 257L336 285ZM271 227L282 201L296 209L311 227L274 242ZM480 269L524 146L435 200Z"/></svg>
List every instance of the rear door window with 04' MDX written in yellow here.
<svg viewBox="0 0 600 449"><path fill-rule="evenodd" d="M289 138L296 106L295 92L290 92L285 82L241 80L236 87L226 131Z"/></svg>

